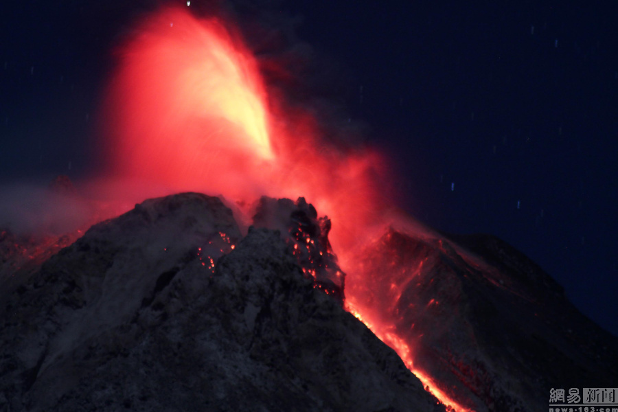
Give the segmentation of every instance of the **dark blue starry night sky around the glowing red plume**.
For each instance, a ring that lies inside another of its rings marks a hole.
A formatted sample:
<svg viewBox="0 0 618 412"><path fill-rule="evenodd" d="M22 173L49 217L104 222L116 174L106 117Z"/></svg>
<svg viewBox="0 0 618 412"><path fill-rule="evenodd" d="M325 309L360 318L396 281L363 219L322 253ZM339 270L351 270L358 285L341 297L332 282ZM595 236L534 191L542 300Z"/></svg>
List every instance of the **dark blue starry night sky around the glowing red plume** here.
<svg viewBox="0 0 618 412"><path fill-rule="evenodd" d="M6 3L0 183L92 174L111 49L154 2ZM255 17L285 32L286 47L302 46L314 60L306 81L325 78L317 93L326 89L393 159L404 208L443 231L506 240L618 334L610 5L256 3L225 6L244 23Z"/></svg>

